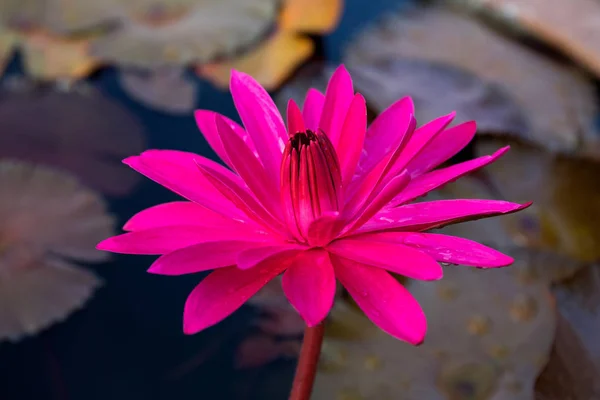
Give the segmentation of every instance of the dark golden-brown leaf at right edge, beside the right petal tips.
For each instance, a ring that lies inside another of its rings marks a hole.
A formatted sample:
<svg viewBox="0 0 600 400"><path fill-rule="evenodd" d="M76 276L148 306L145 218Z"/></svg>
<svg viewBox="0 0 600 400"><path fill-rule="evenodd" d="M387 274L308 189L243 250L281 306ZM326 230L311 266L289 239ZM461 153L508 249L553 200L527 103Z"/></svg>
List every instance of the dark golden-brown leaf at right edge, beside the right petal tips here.
<svg viewBox="0 0 600 400"><path fill-rule="evenodd" d="M476 149L482 155L504 145L485 140ZM512 143L485 174L505 199L534 202L510 218L511 235L520 244L580 262L600 260L600 165Z"/></svg>

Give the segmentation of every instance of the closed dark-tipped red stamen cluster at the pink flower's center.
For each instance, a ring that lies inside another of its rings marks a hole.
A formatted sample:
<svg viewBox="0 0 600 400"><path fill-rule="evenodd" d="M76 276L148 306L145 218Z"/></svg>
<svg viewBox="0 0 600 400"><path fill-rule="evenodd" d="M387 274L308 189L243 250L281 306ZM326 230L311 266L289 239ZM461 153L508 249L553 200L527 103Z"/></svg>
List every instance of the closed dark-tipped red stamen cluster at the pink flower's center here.
<svg viewBox="0 0 600 400"><path fill-rule="evenodd" d="M288 228L306 241L311 223L342 205L340 163L322 131L290 135L281 163L281 196Z"/></svg>

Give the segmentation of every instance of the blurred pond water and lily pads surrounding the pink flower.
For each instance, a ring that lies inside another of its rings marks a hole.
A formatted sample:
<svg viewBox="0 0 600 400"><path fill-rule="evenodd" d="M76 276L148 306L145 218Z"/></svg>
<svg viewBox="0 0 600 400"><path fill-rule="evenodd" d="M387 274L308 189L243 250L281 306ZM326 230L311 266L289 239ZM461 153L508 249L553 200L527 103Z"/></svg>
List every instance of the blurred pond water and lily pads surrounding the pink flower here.
<svg viewBox="0 0 600 400"><path fill-rule="evenodd" d="M0 0L0 399L287 398L302 321L275 282L182 333L202 278L94 250L176 199L120 163L148 148L215 158L192 111L237 119L229 70L283 107L343 62L372 119L413 97L511 151L436 198L534 201L445 228L515 257L404 281L429 319L413 348L342 291L315 400L600 398L597 0ZM429 199L429 198L428 198Z"/></svg>

